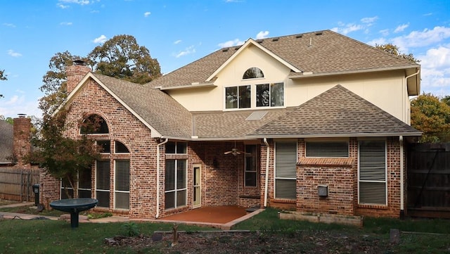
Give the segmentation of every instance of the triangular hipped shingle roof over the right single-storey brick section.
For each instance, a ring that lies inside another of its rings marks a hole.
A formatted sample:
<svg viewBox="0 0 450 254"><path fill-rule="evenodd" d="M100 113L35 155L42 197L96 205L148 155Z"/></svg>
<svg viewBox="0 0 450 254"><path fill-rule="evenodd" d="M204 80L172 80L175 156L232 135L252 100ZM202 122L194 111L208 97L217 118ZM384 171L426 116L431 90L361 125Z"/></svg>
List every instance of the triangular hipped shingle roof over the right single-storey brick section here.
<svg viewBox="0 0 450 254"><path fill-rule="evenodd" d="M420 135L417 129L341 85L249 134L271 138Z"/></svg>

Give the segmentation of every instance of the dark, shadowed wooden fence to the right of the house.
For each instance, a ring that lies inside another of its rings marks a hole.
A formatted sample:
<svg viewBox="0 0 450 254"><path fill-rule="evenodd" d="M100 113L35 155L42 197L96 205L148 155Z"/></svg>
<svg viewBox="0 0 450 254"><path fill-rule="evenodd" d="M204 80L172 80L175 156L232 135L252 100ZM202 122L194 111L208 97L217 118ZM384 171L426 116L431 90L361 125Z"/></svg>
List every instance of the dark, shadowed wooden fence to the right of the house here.
<svg viewBox="0 0 450 254"><path fill-rule="evenodd" d="M411 144L407 182L408 215L450 218L450 143Z"/></svg>

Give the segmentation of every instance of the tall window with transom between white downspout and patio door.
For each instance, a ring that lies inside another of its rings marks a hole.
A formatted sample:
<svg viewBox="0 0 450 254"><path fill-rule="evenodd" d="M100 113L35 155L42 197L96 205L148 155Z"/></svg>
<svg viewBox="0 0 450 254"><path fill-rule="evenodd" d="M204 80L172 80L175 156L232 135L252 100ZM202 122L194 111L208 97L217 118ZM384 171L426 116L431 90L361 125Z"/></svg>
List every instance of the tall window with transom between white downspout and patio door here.
<svg viewBox="0 0 450 254"><path fill-rule="evenodd" d="M186 143L167 142L166 154L186 154ZM187 160L169 159L165 166L165 209L186 205Z"/></svg>

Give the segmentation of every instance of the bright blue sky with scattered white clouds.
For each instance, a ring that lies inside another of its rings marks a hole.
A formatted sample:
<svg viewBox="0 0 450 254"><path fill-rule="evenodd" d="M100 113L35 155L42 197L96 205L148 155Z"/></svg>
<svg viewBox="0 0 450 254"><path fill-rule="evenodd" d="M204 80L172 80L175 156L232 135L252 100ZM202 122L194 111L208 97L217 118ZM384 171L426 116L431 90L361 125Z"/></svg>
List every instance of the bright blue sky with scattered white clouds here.
<svg viewBox="0 0 450 254"><path fill-rule="evenodd" d="M333 30L366 44L392 43L422 65L422 92L450 95L450 4L435 1L42 0L2 1L0 115L41 117L50 58L86 56L130 34L163 73L248 38Z"/></svg>

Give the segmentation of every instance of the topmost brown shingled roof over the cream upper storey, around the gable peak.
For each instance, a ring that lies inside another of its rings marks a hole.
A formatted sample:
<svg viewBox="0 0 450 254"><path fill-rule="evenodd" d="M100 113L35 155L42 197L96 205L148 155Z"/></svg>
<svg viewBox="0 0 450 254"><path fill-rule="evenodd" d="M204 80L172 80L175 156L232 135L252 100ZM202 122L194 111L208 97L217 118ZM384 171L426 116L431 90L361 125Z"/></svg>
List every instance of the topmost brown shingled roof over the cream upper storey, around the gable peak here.
<svg viewBox="0 0 450 254"><path fill-rule="evenodd" d="M420 67L404 58L330 30L258 39L253 42L301 70L301 73L314 75ZM238 49L240 46L219 49L147 85L167 89L205 83ZM301 73L293 72L293 77Z"/></svg>

